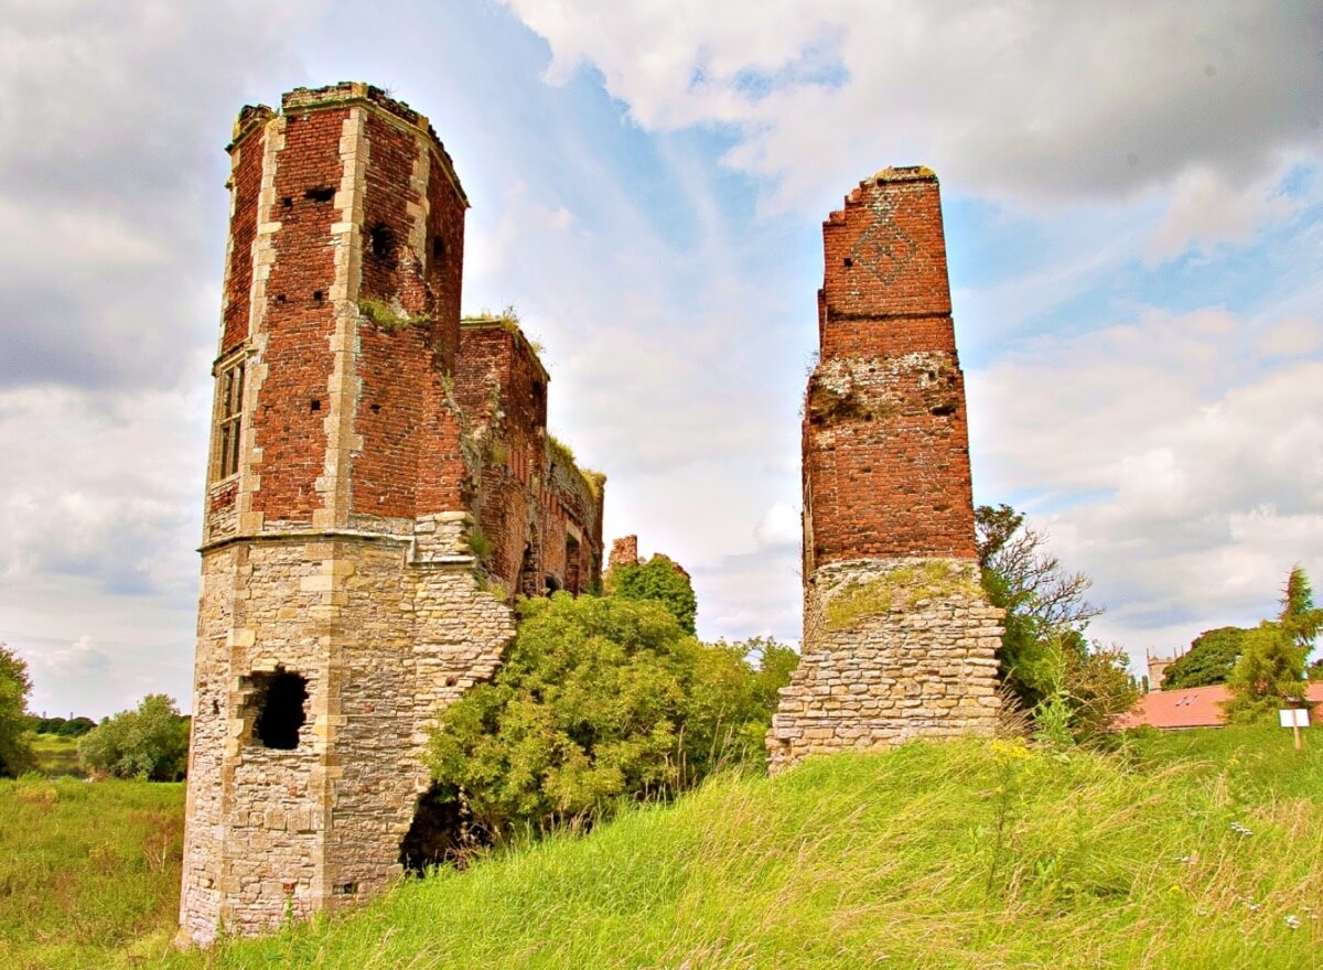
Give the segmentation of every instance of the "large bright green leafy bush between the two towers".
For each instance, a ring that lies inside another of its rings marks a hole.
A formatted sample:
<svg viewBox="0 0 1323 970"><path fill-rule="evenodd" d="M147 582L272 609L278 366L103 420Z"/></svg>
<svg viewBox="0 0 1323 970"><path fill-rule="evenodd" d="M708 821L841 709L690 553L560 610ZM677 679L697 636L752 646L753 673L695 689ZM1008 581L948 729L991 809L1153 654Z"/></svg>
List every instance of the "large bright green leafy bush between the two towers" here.
<svg viewBox="0 0 1323 970"><path fill-rule="evenodd" d="M755 672L745 644L701 644L659 602L557 593L519 610L496 676L446 708L430 744L434 798L470 840L591 823L762 761L785 647L763 643Z"/></svg>

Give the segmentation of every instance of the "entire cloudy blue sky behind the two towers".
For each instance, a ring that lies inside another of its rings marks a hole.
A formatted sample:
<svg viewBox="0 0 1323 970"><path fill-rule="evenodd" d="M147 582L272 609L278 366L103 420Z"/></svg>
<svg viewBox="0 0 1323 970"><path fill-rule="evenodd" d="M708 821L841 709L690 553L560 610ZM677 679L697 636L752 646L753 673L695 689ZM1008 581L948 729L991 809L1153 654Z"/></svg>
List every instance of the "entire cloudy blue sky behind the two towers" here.
<svg viewBox="0 0 1323 970"><path fill-rule="evenodd" d="M942 180L978 503L1138 658L1323 588L1323 7L0 0L0 642L30 707L189 707L229 160L359 79L472 202L464 307L545 347L607 537L706 639L799 637L820 224Z"/></svg>

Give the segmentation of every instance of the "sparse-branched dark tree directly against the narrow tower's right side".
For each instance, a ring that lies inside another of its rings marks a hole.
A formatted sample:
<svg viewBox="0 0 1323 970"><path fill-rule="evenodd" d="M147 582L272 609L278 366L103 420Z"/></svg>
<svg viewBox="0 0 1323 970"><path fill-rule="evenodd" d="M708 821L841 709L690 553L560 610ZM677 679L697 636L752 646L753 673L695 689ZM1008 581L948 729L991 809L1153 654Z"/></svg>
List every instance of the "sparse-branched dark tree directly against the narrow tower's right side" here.
<svg viewBox="0 0 1323 970"><path fill-rule="evenodd" d="M1093 581L1070 573L1046 551L1046 535L1027 527L1009 506L980 506L974 513L983 588L1005 610L1000 676L1025 711L1036 709L1060 688L1057 642L1076 643L1102 610L1085 598Z"/></svg>

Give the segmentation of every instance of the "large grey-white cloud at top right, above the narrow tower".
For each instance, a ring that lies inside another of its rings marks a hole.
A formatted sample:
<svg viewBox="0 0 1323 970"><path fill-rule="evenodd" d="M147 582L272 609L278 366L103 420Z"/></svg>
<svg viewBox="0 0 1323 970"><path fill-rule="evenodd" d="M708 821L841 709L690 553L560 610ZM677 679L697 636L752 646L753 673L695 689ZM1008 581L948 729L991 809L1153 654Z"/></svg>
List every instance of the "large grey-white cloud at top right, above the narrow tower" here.
<svg viewBox="0 0 1323 970"><path fill-rule="evenodd" d="M783 202L885 163L1032 202L1318 150L1323 22L1303 4L505 3L550 44L550 79L590 62L644 127L734 127L732 164Z"/></svg>

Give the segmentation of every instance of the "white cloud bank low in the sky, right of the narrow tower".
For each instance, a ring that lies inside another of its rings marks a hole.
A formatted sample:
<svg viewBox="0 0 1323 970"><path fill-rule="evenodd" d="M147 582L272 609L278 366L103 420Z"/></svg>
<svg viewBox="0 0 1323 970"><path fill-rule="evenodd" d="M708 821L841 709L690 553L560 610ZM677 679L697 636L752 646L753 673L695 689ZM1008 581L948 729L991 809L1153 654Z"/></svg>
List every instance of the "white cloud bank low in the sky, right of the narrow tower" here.
<svg viewBox="0 0 1323 970"><path fill-rule="evenodd" d="M1020 496L1136 654L1269 617L1294 562L1323 570L1323 360L1253 347L1225 311L1147 312L970 375L980 491Z"/></svg>

